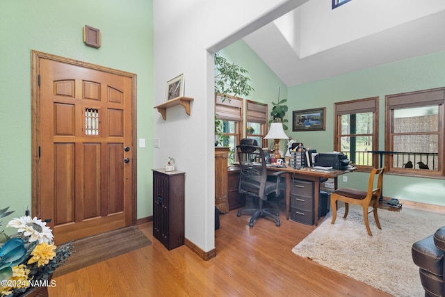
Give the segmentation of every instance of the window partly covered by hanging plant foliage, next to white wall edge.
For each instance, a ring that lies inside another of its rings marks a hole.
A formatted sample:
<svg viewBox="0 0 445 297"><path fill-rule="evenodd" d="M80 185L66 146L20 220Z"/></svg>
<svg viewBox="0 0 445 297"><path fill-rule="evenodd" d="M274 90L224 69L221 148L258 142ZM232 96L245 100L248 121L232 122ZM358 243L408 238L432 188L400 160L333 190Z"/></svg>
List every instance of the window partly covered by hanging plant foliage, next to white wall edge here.
<svg viewBox="0 0 445 297"><path fill-rule="evenodd" d="M223 136L225 136L222 146L228 146L229 159L227 165L236 161L235 147L239 143L240 135L242 135L241 127L243 127L243 99L227 95L227 99L223 102L223 97L216 96L215 115L223 126Z"/></svg>

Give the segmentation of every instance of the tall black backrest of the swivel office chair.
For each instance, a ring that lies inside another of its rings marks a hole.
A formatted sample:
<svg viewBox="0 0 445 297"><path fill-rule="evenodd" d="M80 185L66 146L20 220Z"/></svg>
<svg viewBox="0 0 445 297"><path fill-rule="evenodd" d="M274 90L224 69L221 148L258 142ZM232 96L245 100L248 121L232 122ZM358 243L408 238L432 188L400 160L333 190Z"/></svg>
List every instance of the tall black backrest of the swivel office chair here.
<svg viewBox="0 0 445 297"><path fill-rule="evenodd" d="M267 200L265 194L267 180L267 166L264 159L264 151L249 138L241 139L240 145L236 145L240 166L239 192Z"/></svg>

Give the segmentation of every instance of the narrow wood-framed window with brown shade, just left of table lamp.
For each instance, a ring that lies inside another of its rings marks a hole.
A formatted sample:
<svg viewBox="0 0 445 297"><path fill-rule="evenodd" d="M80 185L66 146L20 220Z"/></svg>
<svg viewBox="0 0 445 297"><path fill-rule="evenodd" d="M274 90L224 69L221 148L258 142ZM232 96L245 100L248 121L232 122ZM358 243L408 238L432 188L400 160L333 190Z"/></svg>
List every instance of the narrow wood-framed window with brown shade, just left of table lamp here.
<svg viewBox="0 0 445 297"><path fill-rule="evenodd" d="M267 141L264 140L267 134L267 113L267 104L247 101L245 137L256 139L259 147L267 147Z"/></svg>

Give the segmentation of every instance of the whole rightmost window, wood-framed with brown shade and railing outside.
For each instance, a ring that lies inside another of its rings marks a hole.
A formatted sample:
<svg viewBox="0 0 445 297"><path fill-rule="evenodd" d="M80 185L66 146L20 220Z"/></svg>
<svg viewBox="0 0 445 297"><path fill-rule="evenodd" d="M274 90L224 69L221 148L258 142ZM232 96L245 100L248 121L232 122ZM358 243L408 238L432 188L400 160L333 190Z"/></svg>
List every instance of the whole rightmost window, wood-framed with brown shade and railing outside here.
<svg viewBox="0 0 445 297"><path fill-rule="evenodd" d="M445 88L386 97L388 173L444 177Z"/></svg>

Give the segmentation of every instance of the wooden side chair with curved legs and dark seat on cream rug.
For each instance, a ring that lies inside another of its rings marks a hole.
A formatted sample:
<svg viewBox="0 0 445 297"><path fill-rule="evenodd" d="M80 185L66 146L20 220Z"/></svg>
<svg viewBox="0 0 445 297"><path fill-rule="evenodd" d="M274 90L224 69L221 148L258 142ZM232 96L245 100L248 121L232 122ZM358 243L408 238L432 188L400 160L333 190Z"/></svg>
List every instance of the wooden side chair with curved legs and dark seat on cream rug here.
<svg viewBox="0 0 445 297"><path fill-rule="evenodd" d="M331 195L331 224L334 224L335 220L337 219L337 201L343 201L345 203L345 214L343 218L348 216L349 204L362 205L364 225L366 226L366 230L368 230L369 236L373 236L371 229L369 228L368 220L368 214L370 214L371 211L374 214L377 227L381 230L382 227L380 227L380 222L378 220L377 205L380 195L382 194L383 172L384 168L373 168L371 175L369 175L368 191L361 191L355 188L339 188L335 190ZM377 187L374 188L374 179L376 175L378 176ZM373 209L368 211L369 207L372 207Z"/></svg>

